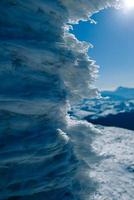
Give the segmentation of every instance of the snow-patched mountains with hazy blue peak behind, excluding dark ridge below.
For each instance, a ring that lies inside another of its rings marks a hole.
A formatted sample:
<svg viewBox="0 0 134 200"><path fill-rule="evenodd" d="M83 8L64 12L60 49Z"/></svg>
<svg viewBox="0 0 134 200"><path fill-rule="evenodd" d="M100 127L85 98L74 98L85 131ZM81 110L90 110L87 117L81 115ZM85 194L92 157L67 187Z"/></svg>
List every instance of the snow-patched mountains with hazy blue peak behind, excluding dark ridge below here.
<svg viewBox="0 0 134 200"><path fill-rule="evenodd" d="M108 115L115 116L119 113L130 113L130 112L133 113L134 110L133 95L134 95L133 88L119 87L117 88L117 90L113 92L103 91L102 98L85 99L78 105L72 107L70 115L79 119L83 119L86 117L86 119L88 119L89 121L90 119L92 119L93 122L93 120L102 117L105 117L106 119Z"/></svg>

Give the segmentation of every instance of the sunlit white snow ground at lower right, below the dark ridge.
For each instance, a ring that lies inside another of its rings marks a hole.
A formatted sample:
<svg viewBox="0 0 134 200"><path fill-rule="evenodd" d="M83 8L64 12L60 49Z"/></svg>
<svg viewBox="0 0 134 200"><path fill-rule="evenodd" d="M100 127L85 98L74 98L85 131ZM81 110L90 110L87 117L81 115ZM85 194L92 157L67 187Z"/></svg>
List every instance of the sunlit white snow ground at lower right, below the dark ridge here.
<svg viewBox="0 0 134 200"><path fill-rule="evenodd" d="M101 156L90 176L98 182L94 200L134 199L134 131L99 127L92 143Z"/></svg>

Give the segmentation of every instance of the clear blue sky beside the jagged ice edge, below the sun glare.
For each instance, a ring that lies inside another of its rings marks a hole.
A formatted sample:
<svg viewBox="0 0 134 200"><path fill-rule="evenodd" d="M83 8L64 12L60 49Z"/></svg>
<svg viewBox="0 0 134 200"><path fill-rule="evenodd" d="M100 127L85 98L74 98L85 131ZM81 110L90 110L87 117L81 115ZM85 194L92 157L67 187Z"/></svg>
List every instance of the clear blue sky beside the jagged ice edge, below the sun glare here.
<svg viewBox="0 0 134 200"><path fill-rule="evenodd" d="M107 9L92 18L97 24L80 22L73 33L94 45L91 58L100 66L99 89L134 87L134 11Z"/></svg>

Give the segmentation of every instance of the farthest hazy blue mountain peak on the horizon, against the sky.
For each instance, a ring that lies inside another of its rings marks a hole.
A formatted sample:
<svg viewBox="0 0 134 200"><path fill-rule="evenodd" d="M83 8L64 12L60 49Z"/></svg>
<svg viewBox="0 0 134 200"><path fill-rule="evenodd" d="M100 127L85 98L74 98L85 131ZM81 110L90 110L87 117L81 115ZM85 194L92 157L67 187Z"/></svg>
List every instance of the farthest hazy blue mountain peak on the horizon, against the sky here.
<svg viewBox="0 0 134 200"><path fill-rule="evenodd" d="M118 87L114 91L102 91L101 93L103 97L109 96L114 100L134 99L134 88Z"/></svg>

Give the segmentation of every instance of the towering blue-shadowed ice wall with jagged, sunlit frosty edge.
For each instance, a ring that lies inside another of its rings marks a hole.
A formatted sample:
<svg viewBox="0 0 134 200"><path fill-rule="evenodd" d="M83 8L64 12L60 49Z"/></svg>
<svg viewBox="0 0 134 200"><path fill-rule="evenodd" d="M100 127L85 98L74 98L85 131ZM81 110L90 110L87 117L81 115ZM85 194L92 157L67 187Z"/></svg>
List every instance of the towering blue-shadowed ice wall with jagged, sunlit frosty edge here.
<svg viewBox="0 0 134 200"><path fill-rule="evenodd" d="M88 199L96 189L89 171L97 130L68 119L67 109L96 95L97 66L68 23L114 3L0 1L1 200Z"/></svg>

